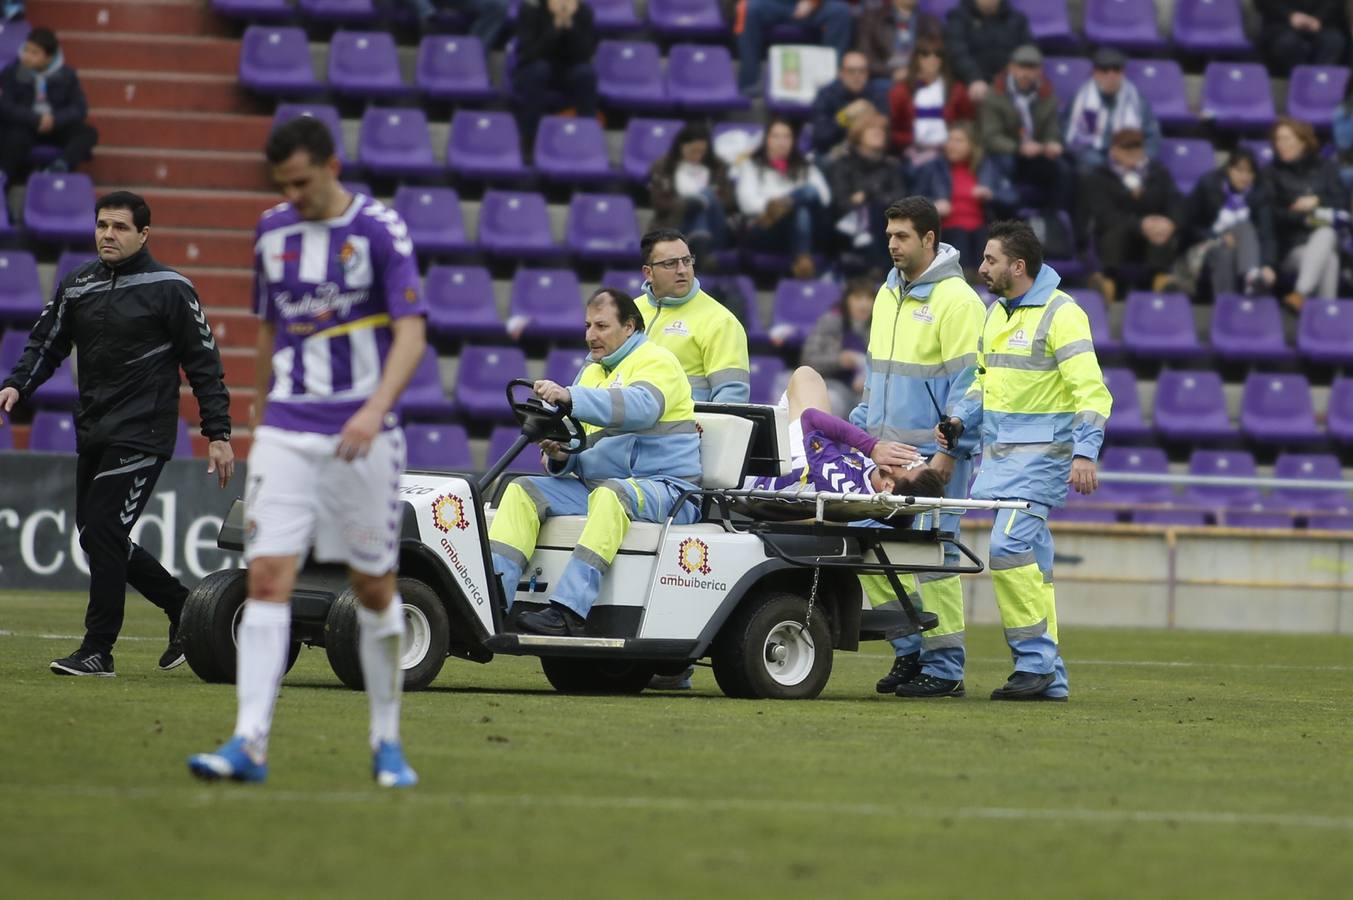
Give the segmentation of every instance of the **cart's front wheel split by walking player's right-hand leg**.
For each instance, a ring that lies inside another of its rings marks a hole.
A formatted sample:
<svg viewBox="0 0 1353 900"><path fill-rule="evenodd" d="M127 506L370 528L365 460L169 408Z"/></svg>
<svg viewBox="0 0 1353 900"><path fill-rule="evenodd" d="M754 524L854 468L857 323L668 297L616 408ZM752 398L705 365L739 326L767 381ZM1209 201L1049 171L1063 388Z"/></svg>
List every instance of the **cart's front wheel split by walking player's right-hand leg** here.
<svg viewBox="0 0 1353 900"><path fill-rule="evenodd" d="M405 613L405 690L422 690L441 673L451 647L451 621L432 587L414 578L400 578L399 595ZM357 593L349 587L329 608L325 618L325 654L338 681L363 690L361 658L357 652Z"/></svg>

